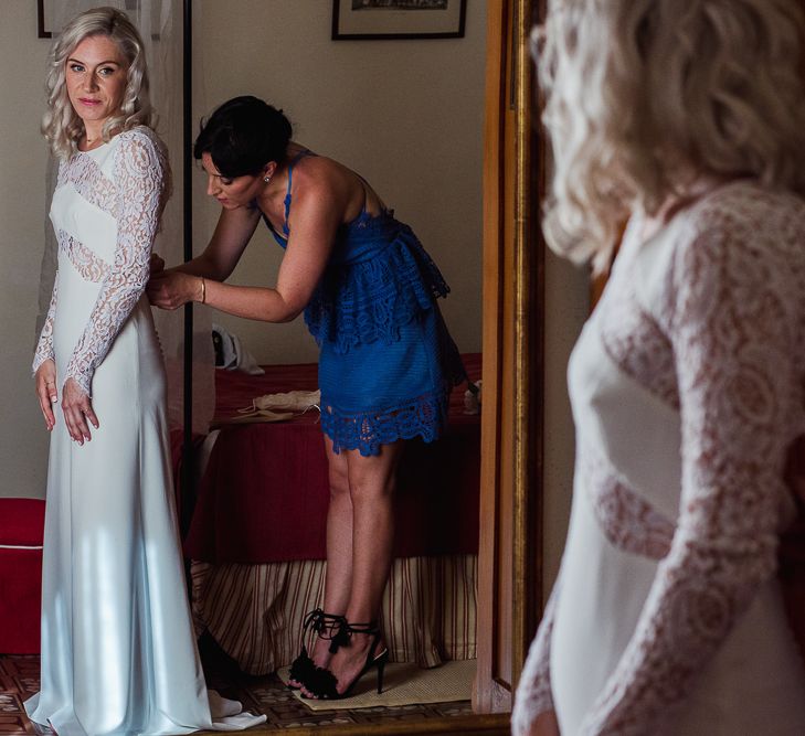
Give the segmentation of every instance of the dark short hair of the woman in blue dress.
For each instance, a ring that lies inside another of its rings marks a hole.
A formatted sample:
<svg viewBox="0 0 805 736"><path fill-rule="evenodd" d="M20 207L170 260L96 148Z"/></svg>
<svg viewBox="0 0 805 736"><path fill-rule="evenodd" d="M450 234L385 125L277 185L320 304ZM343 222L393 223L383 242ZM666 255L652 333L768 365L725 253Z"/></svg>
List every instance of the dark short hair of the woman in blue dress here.
<svg viewBox="0 0 805 736"><path fill-rule="evenodd" d="M269 161L285 159L290 135L282 110L251 95L234 97L201 121L193 156L209 153L224 177L255 175Z"/></svg>

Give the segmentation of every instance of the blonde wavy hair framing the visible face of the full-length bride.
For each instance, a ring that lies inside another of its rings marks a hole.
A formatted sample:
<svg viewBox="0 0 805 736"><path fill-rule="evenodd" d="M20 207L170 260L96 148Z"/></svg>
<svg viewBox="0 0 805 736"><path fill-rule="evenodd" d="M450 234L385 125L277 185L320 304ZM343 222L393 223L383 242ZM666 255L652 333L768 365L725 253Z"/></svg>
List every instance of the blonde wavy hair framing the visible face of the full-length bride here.
<svg viewBox="0 0 805 736"><path fill-rule="evenodd" d="M59 159L67 159L75 153L78 140L84 135L84 122L67 97L66 61L84 39L93 35L112 39L128 63L120 114L104 124L103 139L108 141L113 132L129 130L138 125L149 128L156 125L156 115L148 94L146 50L139 32L128 15L117 8L87 10L64 26L53 43L49 58L45 79L47 111L42 118L42 134Z"/></svg>

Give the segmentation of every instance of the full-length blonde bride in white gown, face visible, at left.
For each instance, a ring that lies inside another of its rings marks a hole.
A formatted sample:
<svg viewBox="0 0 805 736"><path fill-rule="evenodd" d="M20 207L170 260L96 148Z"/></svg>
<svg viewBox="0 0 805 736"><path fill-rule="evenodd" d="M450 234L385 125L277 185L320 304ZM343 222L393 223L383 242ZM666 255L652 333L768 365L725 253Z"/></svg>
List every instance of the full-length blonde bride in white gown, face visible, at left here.
<svg viewBox="0 0 805 736"><path fill-rule="evenodd" d="M127 17L102 8L71 21L47 90L59 271L33 364L52 437L42 685L25 708L60 736L241 730L265 716L208 693L186 596L144 296L169 173Z"/></svg>

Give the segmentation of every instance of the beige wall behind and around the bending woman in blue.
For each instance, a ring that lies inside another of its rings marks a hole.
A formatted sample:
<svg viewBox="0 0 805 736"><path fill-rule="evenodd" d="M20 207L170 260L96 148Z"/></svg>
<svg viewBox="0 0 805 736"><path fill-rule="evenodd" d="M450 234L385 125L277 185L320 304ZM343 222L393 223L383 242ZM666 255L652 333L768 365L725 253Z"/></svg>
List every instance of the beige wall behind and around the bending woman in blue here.
<svg viewBox="0 0 805 736"><path fill-rule="evenodd" d="M205 40L197 119L243 94L282 107L297 141L356 169L414 228L451 285L442 309L459 350L479 351L486 3L468 3L466 38L414 41L331 41L332 3L325 0L195 7L194 38ZM197 249L220 212L202 179ZM261 225L231 280L273 286L280 258ZM218 312L214 319L258 362L317 358L301 319L264 324Z"/></svg>

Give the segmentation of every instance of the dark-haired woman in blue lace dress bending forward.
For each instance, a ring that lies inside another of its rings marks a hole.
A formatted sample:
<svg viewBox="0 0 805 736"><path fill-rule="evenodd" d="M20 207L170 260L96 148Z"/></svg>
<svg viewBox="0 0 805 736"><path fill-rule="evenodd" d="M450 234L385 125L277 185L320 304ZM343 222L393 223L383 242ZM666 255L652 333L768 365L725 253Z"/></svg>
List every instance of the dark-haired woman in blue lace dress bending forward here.
<svg viewBox="0 0 805 736"><path fill-rule="evenodd" d="M193 154L221 216L206 249L153 265L151 302L189 301L287 322L304 311L320 348L329 462L327 579L318 632L292 666L308 697L348 695L388 659L377 616L391 565L392 497L404 440L436 439L465 378L436 305L448 288L411 228L342 164L290 140L280 110L236 97L203 125ZM263 220L285 249L274 288L225 284Z"/></svg>

